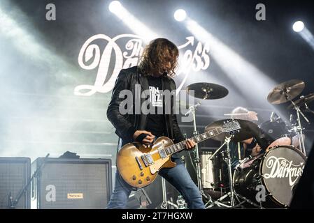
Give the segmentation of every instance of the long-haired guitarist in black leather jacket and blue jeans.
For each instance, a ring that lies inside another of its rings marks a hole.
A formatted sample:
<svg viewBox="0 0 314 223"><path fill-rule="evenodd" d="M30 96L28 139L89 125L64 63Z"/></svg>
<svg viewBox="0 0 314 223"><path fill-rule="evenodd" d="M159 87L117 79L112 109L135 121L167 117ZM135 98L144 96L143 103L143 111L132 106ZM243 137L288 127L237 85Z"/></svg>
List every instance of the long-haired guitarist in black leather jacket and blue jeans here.
<svg viewBox="0 0 314 223"><path fill-rule="evenodd" d="M173 139L174 143L185 140L180 132L176 114L173 112L173 98L168 103L171 105L171 114L166 114L164 112L164 98L166 97L163 98L162 95L163 90L176 90L176 84L172 77L178 66L178 54L178 47L171 41L157 38L145 47L138 66L120 71L107 110L108 120L115 127L115 133L119 137L119 148L133 141L141 142L144 145L152 144L157 137L161 136ZM141 109L138 114L134 112L135 105L133 103L133 107L127 107L131 112L121 114L120 103L125 99L119 98L122 90L131 91L134 98L133 102L138 100L141 101L142 105L143 98L140 97L141 95L134 95L138 86L141 86L141 93L143 90L149 90L149 106L152 106L155 112L144 114ZM194 146L194 141L190 139L185 141L187 149L192 149ZM175 153L171 159L176 162L176 167L163 168L158 174L176 187L187 201L188 208L205 208L201 193L187 172L185 165L180 161L180 155ZM131 190L136 190L136 188L124 182L117 171L115 187L107 208L125 208Z"/></svg>

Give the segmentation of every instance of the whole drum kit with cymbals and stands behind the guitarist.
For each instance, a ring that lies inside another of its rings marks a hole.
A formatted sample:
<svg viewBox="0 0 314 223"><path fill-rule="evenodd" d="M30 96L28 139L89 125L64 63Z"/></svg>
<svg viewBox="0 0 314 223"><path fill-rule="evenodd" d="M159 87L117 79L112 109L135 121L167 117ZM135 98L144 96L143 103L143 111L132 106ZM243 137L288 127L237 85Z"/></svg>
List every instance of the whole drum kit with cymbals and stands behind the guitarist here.
<svg viewBox="0 0 314 223"><path fill-rule="evenodd" d="M222 133L212 138L221 142L220 148L215 152L199 153L199 147L196 146L194 162L197 185L206 201L206 208L287 208L290 205L306 163L301 117L309 123L304 113L314 114L308 107L308 103L314 101L314 93L294 100L304 87L303 81L292 79L276 86L267 96L272 105L290 102L287 109L294 110L297 114L294 123L285 123L275 113L271 114L269 121L260 125L239 118L236 119L241 126L238 132ZM224 98L228 90L218 84L195 83L187 86L187 93L201 100L211 100ZM199 105L200 102L187 112L193 114L194 135L198 134L195 111ZM236 114L227 115L235 117ZM229 119L210 123L205 131L219 128L227 120ZM239 146L247 139L255 141L255 147L260 146L262 150L255 156L238 157L238 164L232 167L231 144ZM213 199L212 194L217 190L220 190L221 196Z"/></svg>

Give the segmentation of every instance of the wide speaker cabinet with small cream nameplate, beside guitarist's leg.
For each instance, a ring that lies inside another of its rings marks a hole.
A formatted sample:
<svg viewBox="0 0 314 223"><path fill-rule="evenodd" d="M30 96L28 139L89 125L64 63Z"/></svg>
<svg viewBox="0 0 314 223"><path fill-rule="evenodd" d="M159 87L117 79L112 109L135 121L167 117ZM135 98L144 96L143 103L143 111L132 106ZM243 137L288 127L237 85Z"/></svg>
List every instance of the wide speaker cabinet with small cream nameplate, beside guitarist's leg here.
<svg viewBox="0 0 314 223"><path fill-rule="evenodd" d="M110 159L38 158L32 197L38 209L104 209L112 191Z"/></svg>

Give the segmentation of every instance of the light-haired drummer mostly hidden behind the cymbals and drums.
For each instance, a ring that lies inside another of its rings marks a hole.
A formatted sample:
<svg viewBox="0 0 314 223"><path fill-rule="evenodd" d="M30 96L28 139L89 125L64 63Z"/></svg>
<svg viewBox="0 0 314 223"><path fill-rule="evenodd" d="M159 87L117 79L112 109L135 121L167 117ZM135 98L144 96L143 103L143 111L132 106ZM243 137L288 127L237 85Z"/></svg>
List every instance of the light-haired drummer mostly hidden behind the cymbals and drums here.
<svg viewBox="0 0 314 223"><path fill-rule="evenodd" d="M257 112L249 111L245 107L236 107L232 110L231 114L231 118L233 119L242 119L254 123L258 121ZM255 157L262 153L262 148L253 137L239 142L230 141L229 148L231 151L231 165L233 169L239 161L243 160L245 157Z"/></svg>

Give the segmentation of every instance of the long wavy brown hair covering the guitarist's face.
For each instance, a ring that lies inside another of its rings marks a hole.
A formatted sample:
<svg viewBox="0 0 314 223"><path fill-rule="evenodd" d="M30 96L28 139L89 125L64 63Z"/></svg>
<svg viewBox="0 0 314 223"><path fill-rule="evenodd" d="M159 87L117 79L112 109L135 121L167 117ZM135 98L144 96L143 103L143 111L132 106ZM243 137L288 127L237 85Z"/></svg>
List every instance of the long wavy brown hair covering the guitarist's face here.
<svg viewBox="0 0 314 223"><path fill-rule="evenodd" d="M171 78L178 67L178 47L166 38L152 40L143 50L138 70L143 75L163 74Z"/></svg>

